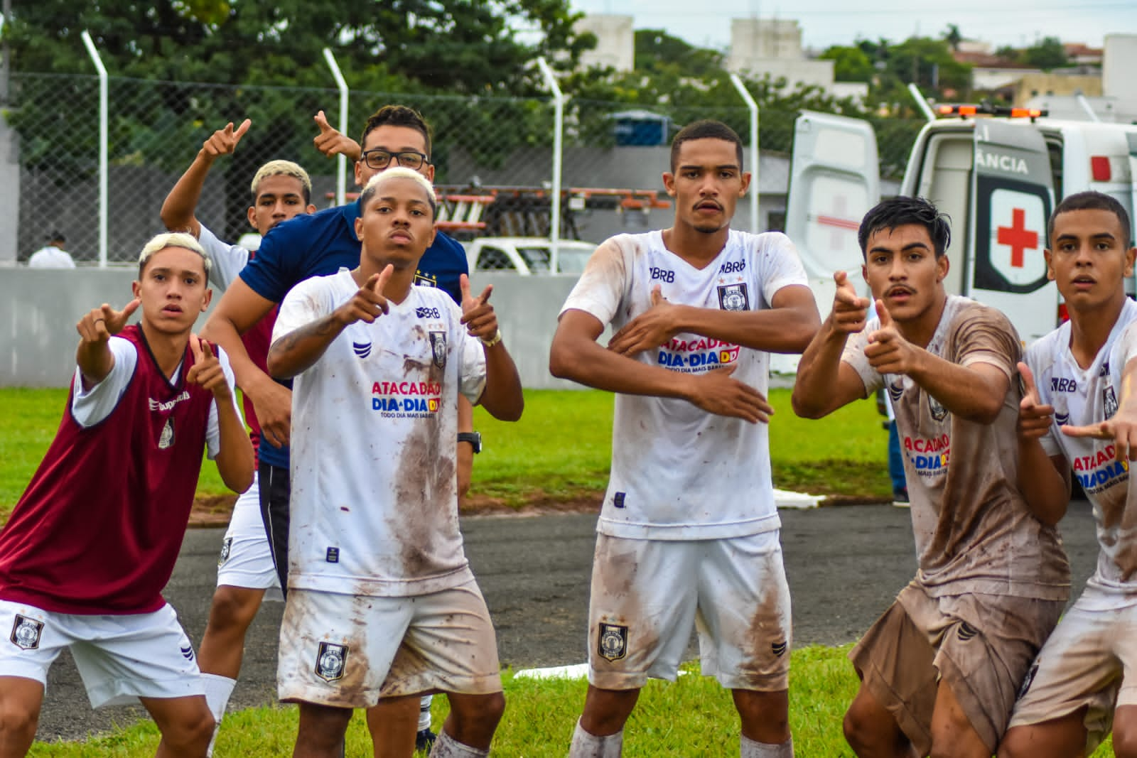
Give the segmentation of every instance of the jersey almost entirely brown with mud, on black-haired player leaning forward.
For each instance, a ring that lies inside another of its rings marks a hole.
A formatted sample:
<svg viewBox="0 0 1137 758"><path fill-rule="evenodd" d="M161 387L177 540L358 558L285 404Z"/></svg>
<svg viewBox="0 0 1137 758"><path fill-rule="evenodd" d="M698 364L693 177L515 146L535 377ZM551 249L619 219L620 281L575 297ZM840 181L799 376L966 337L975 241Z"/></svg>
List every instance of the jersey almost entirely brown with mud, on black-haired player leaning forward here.
<svg viewBox="0 0 1137 758"><path fill-rule="evenodd" d="M841 360L861 376L866 397L888 388L896 411L920 570L932 597L984 592L1065 600L1070 565L1057 531L1039 522L1018 488L1016 423L1022 391L1019 335L1006 316L948 295L926 350L958 366L991 366L1009 380L990 424L963 418L910 376L880 375L864 349L873 318Z"/></svg>

